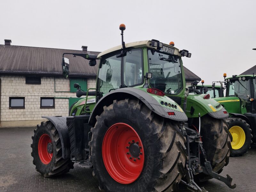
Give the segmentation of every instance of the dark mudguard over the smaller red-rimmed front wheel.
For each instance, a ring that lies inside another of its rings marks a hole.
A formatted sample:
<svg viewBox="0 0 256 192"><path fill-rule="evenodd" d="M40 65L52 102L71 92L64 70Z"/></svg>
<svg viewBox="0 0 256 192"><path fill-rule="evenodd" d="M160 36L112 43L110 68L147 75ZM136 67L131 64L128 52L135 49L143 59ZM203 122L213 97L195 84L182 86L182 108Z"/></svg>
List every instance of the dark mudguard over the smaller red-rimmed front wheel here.
<svg viewBox="0 0 256 192"><path fill-rule="evenodd" d="M70 141L68 137L67 116L42 116L56 127L61 141L62 158L70 158Z"/></svg>

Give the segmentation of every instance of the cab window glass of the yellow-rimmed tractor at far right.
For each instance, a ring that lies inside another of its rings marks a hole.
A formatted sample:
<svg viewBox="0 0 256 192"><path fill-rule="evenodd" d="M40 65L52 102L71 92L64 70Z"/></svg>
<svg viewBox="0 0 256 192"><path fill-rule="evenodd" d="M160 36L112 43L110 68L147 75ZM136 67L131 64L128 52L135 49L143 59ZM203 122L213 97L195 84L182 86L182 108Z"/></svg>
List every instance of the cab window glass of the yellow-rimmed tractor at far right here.
<svg viewBox="0 0 256 192"><path fill-rule="evenodd" d="M228 82L228 97L239 97L247 100L246 95L250 95L250 80Z"/></svg>

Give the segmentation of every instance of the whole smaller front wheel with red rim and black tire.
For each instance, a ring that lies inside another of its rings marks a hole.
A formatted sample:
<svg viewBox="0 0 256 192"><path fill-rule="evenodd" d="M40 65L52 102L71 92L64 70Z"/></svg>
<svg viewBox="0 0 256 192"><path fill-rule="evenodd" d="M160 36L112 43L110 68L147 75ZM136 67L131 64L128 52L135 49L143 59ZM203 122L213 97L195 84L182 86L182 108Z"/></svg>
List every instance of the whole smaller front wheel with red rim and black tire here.
<svg viewBox="0 0 256 192"><path fill-rule="evenodd" d="M51 177L74 168L70 159L62 158L60 135L50 121L41 122L34 133L31 156L36 171L44 177Z"/></svg>

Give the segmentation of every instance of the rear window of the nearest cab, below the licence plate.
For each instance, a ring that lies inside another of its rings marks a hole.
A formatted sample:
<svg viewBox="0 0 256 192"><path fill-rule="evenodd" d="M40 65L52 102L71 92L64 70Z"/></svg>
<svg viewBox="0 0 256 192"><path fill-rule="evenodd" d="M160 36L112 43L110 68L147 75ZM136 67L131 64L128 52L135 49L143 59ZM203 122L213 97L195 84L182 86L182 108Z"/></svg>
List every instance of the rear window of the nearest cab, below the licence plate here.
<svg viewBox="0 0 256 192"><path fill-rule="evenodd" d="M148 50L150 86L168 94L177 94L182 89L180 59L176 55Z"/></svg>

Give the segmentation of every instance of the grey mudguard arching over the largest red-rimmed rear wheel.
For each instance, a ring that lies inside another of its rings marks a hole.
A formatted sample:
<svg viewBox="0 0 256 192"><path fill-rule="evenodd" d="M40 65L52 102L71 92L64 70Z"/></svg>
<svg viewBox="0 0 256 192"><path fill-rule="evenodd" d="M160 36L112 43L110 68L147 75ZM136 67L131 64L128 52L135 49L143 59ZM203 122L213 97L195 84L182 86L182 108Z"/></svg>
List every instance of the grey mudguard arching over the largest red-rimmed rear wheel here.
<svg viewBox="0 0 256 192"><path fill-rule="evenodd" d="M100 115L103 112L104 106L109 106L113 103L113 100L124 100L125 98L133 98L141 100L150 110L156 113L159 116L163 116L168 119L172 119L175 121L188 121L188 117L182 111L172 110L171 108L164 108L162 105L156 101L150 94L144 92L140 89L128 87L117 89L109 92L104 95L95 107L93 108L92 114L89 119L89 125L94 126L96 123L96 116ZM174 101L173 101L174 102ZM177 104L178 105L178 104ZM181 109L182 110L182 109ZM168 116L167 112L175 112L174 116Z"/></svg>

